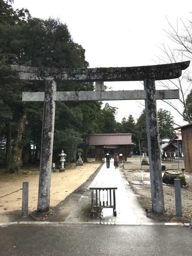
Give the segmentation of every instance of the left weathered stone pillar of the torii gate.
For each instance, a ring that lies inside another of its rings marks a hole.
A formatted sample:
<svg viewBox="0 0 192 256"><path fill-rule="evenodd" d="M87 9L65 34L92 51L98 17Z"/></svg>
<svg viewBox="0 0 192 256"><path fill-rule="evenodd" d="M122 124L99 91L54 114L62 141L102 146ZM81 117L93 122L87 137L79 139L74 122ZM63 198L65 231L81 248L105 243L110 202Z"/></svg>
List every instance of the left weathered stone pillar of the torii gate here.
<svg viewBox="0 0 192 256"><path fill-rule="evenodd" d="M39 172L39 191L37 209L38 212L47 212L50 208L50 182L55 117L55 91L56 82L53 80L46 81L43 109L41 160Z"/></svg>

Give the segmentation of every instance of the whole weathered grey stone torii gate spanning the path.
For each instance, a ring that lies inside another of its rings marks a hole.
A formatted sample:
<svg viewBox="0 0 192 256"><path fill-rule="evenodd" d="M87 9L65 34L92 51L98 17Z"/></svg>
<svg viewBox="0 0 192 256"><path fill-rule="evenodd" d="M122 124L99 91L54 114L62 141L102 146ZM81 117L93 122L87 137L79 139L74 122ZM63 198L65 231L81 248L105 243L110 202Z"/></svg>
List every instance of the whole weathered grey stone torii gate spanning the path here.
<svg viewBox="0 0 192 256"><path fill-rule="evenodd" d="M156 90L155 80L178 78L190 61L141 67L41 68L12 65L22 80L44 80L45 92L23 92L22 101L44 101L38 209L50 208L55 101L145 100L152 210L164 213L156 99L178 99L179 90ZM94 92L57 92L56 81L96 82ZM144 90L104 91L104 82L144 81Z"/></svg>

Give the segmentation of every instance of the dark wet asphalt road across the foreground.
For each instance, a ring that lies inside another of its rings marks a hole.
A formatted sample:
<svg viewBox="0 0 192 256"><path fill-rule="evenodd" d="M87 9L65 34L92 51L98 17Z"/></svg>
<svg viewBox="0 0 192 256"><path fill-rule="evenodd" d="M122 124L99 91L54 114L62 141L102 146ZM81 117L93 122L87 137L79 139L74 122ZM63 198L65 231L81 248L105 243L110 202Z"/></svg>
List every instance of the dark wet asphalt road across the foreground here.
<svg viewBox="0 0 192 256"><path fill-rule="evenodd" d="M165 225L16 224L0 227L1 256L190 256L192 229Z"/></svg>

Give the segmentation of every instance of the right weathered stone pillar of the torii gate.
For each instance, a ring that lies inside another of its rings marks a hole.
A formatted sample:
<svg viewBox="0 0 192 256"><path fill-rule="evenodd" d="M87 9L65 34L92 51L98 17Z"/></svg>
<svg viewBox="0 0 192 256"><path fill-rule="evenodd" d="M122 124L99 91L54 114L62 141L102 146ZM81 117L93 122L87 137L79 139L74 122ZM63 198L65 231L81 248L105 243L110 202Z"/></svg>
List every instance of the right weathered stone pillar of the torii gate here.
<svg viewBox="0 0 192 256"><path fill-rule="evenodd" d="M161 151L159 144L159 127L155 97L155 80L145 79L146 90L146 131L150 164L150 187L152 209L156 213L164 212L163 182L161 170Z"/></svg>

